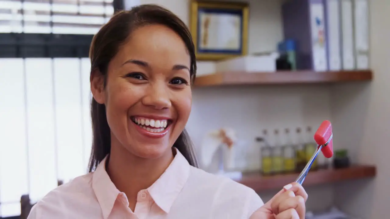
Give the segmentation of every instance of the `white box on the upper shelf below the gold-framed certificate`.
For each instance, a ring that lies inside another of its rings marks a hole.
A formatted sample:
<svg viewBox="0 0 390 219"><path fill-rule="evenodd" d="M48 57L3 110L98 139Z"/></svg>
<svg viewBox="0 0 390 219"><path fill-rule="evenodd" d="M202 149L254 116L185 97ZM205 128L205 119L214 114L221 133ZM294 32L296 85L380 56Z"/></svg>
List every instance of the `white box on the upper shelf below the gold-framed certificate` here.
<svg viewBox="0 0 390 219"><path fill-rule="evenodd" d="M218 61L215 64L216 72L245 71L245 72L276 72L277 53L270 55L248 55Z"/></svg>

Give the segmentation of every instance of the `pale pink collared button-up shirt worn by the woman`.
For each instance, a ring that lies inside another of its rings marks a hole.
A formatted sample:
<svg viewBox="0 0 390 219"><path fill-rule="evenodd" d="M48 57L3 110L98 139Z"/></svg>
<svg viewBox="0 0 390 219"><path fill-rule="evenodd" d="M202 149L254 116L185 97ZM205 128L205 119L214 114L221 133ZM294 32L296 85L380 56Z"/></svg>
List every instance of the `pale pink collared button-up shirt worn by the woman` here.
<svg viewBox="0 0 390 219"><path fill-rule="evenodd" d="M248 219L263 205L250 189L190 166L177 154L151 187L138 192L135 211L106 170L75 178L48 193L28 219Z"/></svg>

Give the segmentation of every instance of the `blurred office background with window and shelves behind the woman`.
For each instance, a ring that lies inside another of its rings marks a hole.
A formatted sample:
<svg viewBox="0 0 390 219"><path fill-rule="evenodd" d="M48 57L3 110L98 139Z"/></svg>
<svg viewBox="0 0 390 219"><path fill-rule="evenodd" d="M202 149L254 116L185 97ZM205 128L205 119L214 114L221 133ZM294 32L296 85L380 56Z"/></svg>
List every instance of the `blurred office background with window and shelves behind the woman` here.
<svg viewBox="0 0 390 219"><path fill-rule="evenodd" d="M27 217L87 173L90 41L139 4L167 7L193 34L186 128L200 168L265 202L330 120L335 155L318 157L303 184L307 218L388 217L388 0L0 0L0 218Z"/></svg>

